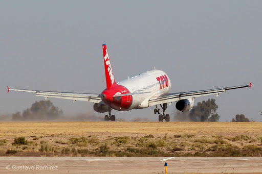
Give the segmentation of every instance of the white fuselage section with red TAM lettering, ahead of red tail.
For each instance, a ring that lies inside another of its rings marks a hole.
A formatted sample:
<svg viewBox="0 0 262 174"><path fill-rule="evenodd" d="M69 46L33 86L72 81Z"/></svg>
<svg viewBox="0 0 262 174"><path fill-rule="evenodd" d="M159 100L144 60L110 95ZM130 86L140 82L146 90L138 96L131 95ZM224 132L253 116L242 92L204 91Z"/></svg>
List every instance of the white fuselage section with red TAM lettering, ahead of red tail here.
<svg viewBox="0 0 262 174"><path fill-rule="evenodd" d="M132 95L133 102L128 110L147 108L152 96L168 93L171 89L170 79L161 70L146 71L138 76L120 81L118 85L126 87L130 93L141 93Z"/></svg>

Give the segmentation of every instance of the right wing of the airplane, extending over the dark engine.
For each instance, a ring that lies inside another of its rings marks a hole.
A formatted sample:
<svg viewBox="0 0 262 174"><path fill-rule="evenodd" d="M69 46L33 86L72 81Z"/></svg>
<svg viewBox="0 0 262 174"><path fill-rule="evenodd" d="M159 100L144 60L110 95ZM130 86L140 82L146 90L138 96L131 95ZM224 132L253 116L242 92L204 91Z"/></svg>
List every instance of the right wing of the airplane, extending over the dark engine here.
<svg viewBox="0 0 262 174"><path fill-rule="evenodd" d="M164 104L164 103L169 103L169 102L177 102L177 101L180 101L180 100L183 100L183 99L195 98L195 97L206 96L206 95L211 95L211 94L215 94L216 96L219 96L220 93L226 92L226 90L246 88L246 87L251 88L251 83L249 82L248 85L208 89L208 90L201 90L201 91L157 94L155 96L152 96L149 99L149 106L159 105L159 104Z"/></svg>

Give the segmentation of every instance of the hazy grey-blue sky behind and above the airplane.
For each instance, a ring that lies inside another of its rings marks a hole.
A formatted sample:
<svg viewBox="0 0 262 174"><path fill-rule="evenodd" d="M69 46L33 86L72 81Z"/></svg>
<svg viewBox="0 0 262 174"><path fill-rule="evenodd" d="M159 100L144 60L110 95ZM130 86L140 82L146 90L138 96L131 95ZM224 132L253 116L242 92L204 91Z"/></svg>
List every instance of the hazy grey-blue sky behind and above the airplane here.
<svg viewBox="0 0 262 174"><path fill-rule="evenodd" d="M170 92L252 83L198 97L215 98L220 121L236 114L262 121L262 1L0 1L0 114L23 111L33 93L11 88L101 93L102 44L116 81L156 67ZM50 98L65 115L96 113L93 104ZM114 111L158 120L154 108ZM167 108L170 117L176 111Z"/></svg>

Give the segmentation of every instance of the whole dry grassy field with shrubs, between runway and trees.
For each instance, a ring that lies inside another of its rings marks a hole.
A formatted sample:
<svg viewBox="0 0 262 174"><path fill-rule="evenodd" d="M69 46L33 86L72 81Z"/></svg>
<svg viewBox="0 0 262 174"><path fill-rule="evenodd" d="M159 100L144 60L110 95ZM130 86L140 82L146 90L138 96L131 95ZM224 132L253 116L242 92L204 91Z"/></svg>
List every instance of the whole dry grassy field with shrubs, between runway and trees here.
<svg viewBox="0 0 262 174"><path fill-rule="evenodd" d="M1 122L0 156L253 156L261 122Z"/></svg>

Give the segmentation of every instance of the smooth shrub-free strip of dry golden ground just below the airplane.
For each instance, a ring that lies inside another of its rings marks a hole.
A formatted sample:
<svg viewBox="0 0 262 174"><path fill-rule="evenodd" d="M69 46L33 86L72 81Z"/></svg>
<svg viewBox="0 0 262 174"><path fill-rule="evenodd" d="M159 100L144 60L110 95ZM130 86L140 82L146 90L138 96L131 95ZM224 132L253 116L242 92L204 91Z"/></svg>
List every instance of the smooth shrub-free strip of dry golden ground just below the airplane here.
<svg viewBox="0 0 262 174"><path fill-rule="evenodd" d="M64 135L260 135L262 122L1 122L0 138Z"/></svg>

